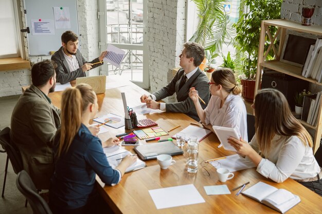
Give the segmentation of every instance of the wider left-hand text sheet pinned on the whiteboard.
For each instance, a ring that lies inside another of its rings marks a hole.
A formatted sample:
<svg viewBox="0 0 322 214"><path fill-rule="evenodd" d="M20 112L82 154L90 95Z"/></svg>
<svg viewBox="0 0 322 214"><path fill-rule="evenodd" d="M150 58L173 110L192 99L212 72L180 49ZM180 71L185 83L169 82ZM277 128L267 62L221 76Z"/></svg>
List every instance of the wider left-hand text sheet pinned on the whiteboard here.
<svg viewBox="0 0 322 214"><path fill-rule="evenodd" d="M53 20L31 20L32 35L55 35Z"/></svg>

